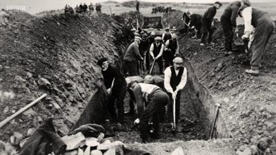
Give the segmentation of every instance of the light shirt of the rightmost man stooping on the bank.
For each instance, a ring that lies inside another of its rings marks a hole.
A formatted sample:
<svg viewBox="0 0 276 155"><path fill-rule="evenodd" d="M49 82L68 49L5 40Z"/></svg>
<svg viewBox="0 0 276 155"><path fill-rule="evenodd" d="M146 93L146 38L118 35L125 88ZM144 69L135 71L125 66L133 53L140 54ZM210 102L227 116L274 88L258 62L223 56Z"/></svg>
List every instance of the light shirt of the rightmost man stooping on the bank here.
<svg viewBox="0 0 276 155"><path fill-rule="evenodd" d="M254 30L252 21L252 7L244 8L242 11L242 17L244 17L244 33L249 32L252 33Z"/></svg>

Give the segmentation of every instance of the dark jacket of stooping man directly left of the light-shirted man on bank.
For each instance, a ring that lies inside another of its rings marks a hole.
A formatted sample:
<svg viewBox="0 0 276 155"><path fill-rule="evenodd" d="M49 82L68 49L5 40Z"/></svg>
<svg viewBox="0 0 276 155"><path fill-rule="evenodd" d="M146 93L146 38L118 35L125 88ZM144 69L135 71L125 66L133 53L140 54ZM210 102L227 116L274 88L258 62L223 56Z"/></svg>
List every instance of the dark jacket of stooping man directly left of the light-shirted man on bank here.
<svg viewBox="0 0 276 155"><path fill-rule="evenodd" d="M232 27L237 27L237 15L239 7L242 6L240 1L233 1L229 6L226 7L224 13L221 15L221 21L228 21L227 24L231 24Z"/></svg>

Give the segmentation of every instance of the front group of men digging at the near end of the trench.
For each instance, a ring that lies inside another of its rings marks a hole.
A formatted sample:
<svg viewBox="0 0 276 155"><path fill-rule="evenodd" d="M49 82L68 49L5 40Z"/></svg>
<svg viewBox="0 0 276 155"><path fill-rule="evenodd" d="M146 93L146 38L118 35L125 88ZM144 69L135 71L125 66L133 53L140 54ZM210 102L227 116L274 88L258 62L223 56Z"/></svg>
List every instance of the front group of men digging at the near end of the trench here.
<svg viewBox="0 0 276 155"><path fill-rule="evenodd" d="M124 123L124 98L126 92L129 92L130 114L137 114L134 124L139 124L140 136L144 143L148 142L149 137L159 138L159 123L163 120L166 109L168 121L172 123L175 120L175 123L179 123L180 90L184 88L187 81L187 70L182 66L181 57L175 57L173 65L166 68L164 79L150 75L145 79L140 76L124 78L119 68L108 63L107 58L99 59L97 64L101 67L103 74L108 94L107 109L112 121ZM173 118L173 104L175 104L175 119ZM151 134L149 123L152 123L153 128Z"/></svg>

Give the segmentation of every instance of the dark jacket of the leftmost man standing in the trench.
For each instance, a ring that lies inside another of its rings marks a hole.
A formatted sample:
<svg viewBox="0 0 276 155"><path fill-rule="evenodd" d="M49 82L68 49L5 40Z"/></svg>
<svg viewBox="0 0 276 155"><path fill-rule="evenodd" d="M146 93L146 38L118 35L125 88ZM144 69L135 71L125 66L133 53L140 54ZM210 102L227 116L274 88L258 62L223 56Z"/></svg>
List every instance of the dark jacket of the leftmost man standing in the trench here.
<svg viewBox="0 0 276 155"><path fill-rule="evenodd" d="M101 73L103 74L103 82L106 89L111 87L114 78L112 92L121 90L121 87L126 87L126 79L115 65L108 64L108 69L106 71L101 70Z"/></svg>

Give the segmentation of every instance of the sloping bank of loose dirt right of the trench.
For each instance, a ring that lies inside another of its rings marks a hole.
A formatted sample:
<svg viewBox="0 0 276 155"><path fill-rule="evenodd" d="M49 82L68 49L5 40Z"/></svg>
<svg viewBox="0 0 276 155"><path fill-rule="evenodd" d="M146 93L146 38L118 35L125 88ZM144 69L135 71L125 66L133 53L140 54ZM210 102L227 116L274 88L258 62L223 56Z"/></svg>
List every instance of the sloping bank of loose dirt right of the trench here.
<svg viewBox="0 0 276 155"><path fill-rule="evenodd" d="M250 68L244 52L224 54L223 32L219 23L216 27L214 45L201 47L199 40L190 39L186 34L181 36L181 53L192 63L199 81L209 88L215 101L221 103L220 114L238 142L235 144L255 145L262 137L272 138L276 132L276 34L266 48L262 74L251 76L244 72ZM239 31L242 33L242 25Z"/></svg>

